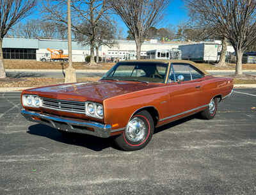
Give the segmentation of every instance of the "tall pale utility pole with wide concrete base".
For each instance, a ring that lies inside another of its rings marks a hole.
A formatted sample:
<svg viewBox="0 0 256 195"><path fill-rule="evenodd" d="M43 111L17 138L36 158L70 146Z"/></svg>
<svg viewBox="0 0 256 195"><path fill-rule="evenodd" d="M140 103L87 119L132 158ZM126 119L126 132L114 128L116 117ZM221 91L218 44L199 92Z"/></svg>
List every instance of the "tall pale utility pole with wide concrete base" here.
<svg viewBox="0 0 256 195"><path fill-rule="evenodd" d="M65 83L67 82L76 82L76 70L72 67L72 32L70 0L68 0L68 68L65 70Z"/></svg>

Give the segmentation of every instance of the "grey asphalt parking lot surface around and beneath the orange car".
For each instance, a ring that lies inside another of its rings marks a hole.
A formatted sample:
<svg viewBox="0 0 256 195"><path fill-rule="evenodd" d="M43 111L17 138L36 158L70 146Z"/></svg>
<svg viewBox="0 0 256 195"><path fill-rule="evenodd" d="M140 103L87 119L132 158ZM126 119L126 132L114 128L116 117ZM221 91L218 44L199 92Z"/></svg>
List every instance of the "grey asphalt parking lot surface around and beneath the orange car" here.
<svg viewBox="0 0 256 195"><path fill-rule="evenodd" d="M147 148L26 121L0 93L0 194L256 194L256 89L236 89L214 120L156 129Z"/></svg>

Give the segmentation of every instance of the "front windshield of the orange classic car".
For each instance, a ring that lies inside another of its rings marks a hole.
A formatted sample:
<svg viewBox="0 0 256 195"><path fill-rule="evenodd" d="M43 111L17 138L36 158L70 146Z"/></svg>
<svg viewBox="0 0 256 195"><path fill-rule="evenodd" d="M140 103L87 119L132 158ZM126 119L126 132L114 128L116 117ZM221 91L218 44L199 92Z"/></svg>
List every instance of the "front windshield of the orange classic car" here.
<svg viewBox="0 0 256 195"><path fill-rule="evenodd" d="M121 62L102 79L114 81L164 82L168 64L157 62Z"/></svg>

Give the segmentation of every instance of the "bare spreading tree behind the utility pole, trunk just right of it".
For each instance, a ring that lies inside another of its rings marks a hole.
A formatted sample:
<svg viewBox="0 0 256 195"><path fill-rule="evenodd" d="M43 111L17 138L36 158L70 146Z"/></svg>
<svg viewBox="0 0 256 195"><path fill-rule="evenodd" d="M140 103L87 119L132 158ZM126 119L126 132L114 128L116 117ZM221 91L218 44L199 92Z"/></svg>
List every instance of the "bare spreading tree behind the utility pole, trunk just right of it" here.
<svg viewBox="0 0 256 195"><path fill-rule="evenodd" d="M76 33L81 33L88 36L91 50L91 62L90 65L95 65L94 60L94 48L96 29L100 20L104 19L109 10L107 0L72 0L72 30ZM63 0L56 0L52 3L51 0L47 0L44 10L46 18L48 20L55 21L60 26L67 26L67 11L63 10ZM89 24L88 29L79 30L82 24Z"/></svg>

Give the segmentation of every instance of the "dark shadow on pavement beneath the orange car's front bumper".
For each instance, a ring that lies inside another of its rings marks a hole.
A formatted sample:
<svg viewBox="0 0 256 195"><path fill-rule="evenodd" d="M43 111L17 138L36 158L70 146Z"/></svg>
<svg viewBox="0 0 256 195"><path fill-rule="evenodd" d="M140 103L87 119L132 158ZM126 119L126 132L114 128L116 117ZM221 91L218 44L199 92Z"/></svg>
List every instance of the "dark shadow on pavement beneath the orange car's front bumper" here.
<svg viewBox="0 0 256 195"><path fill-rule="evenodd" d="M61 143L82 146L96 152L102 151L109 147L119 150L116 148L111 137L101 138L85 134L68 134L68 136L63 136L58 130L42 124L31 125L28 133L36 136L47 137Z"/></svg>

